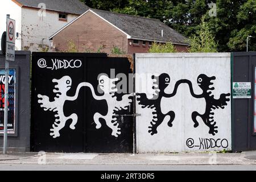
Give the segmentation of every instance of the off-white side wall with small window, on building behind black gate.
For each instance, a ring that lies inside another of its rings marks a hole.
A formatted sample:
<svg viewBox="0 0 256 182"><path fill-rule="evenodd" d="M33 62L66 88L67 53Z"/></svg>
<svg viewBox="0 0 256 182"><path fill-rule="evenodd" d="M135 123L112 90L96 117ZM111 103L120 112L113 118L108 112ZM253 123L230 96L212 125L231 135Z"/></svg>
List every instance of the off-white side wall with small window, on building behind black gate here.
<svg viewBox="0 0 256 182"><path fill-rule="evenodd" d="M46 5L47 8L47 5ZM49 37L65 24L77 18L78 15L68 14L68 21L59 20L59 13L46 11L46 16L40 17L37 9L22 8L22 47L30 51L42 51L42 43L51 48Z"/></svg>

